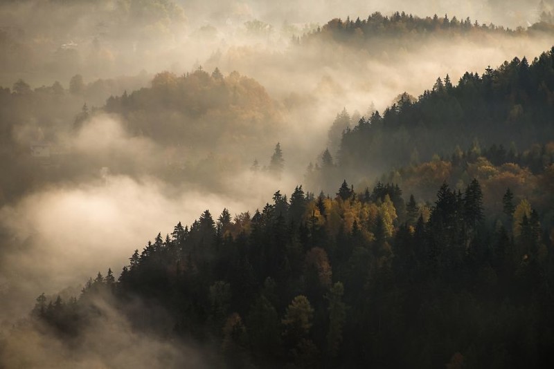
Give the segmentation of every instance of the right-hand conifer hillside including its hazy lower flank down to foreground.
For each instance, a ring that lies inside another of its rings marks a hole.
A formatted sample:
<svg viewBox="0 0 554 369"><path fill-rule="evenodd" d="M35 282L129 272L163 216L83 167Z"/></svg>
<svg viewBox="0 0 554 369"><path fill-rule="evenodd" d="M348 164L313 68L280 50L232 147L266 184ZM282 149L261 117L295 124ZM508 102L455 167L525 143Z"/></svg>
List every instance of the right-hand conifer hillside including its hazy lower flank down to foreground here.
<svg viewBox="0 0 554 369"><path fill-rule="evenodd" d="M526 57L515 58L481 76L466 72L457 84L448 75L438 77L418 99L402 93L382 114L370 108L356 118L343 109L328 131L328 149L308 166L305 185L330 191L341 178L368 185L390 172L386 178L392 182L430 198L418 183L429 189L429 184L438 187L449 179L462 188L473 177L494 177L467 166L479 155L497 166L519 164L541 173L552 162L553 55L551 49L530 65ZM431 159L449 164L421 173Z"/></svg>

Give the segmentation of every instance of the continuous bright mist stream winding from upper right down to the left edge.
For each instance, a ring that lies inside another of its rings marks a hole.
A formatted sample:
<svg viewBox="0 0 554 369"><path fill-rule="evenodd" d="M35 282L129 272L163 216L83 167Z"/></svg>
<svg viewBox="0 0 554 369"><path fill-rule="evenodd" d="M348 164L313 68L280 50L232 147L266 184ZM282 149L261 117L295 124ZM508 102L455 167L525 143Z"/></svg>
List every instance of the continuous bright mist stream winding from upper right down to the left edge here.
<svg viewBox="0 0 554 369"><path fill-rule="evenodd" d="M179 220L191 223L204 209L252 212L274 191L292 191L303 182L307 164L319 160L332 119L343 107L367 115L370 106L382 110L403 91L419 95L438 76L449 74L456 81L466 70L481 73L515 55L538 55L548 42L543 36L499 35L430 39L409 48L395 48L384 39L361 50L325 42L284 49L227 44L206 59L204 69L247 70L267 88L283 114L278 135L253 138L266 142L267 156L241 151L241 159L229 165L226 160L236 155L232 146L206 144L202 154L179 156L177 151L175 159L170 148L148 135L129 133L119 115L93 115L80 130L60 133L56 140L70 148L65 160L78 175L1 209L0 223L10 237L3 290L26 296L24 301L4 299L5 310L19 311L44 290L82 283L98 268L120 270L132 249L143 247L158 231L170 233ZM276 141L285 156L280 182L250 169L254 158L262 165L269 162ZM189 171L188 178L181 176L176 184L159 176L172 168Z"/></svg>

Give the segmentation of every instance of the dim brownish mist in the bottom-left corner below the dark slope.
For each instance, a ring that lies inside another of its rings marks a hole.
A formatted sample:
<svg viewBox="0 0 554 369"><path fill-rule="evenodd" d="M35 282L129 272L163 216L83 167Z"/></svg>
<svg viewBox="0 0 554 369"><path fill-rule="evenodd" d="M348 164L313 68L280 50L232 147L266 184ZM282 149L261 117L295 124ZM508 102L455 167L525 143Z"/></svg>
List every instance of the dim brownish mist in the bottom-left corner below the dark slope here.
<svg viewBox="0 0 554 369"><path fill-rule="evenodd" d="M134 301L134 305L143 308L140 301ZM217 365L206 348L136 330L112 301L98 298L91 301L91 306L98 314L70 345L36 321L14 328L3 347L0 364L5 368L195 369ZM161 314L157 312L157 316Z"/></svg>

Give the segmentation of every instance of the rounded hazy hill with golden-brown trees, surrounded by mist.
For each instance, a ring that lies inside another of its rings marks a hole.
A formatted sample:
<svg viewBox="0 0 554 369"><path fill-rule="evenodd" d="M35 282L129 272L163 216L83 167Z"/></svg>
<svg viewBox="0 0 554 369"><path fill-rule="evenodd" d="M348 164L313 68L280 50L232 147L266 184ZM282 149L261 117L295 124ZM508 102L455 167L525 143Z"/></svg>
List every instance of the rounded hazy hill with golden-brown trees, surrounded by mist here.
<svg viewBox="0 0 554 369"><path fill-rule="evenodd" d="M282 125L258 82L237 72L224 77L217 68L181 77L159 73L151 88L110 97L105 111L122 115L132 134L191 149L250 144L256 151L256 144Z"/></svg>

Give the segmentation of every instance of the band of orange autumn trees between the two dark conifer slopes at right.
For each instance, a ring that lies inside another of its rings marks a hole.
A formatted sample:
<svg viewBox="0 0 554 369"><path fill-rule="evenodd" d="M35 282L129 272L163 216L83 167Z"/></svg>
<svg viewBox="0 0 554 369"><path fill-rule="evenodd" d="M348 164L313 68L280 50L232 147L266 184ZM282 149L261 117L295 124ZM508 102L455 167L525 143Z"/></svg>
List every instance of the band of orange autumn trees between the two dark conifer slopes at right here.
<svg viewBox="0 0 554 369"><path fill-rule="evenodd" d="M305 174L305 185L310 189L334 188L337 177L346 176L365 187L374 183L373 172L353 172L344 170L334 162L329 150L325 150L315 165L310 164ZM383 183L396 183L407 193L423 201L431 200L436 189L446 180L453 189L462 190L473 178L479 180L483 191L483 205L488 214L495 216L501 213L502 204L497 193L506 188L527 198L536 205L542 215L544 226L554 226L554 142L533 144L517 150L509 149L502 144L492 144L481 148L474 142L466 150L456 147L450 155L434 157L427 162L412 158L410 162L386 171L380 177ZM377 182L377 180L375 180ZM329 190L328 190L329 189Z"/></svg>

